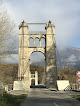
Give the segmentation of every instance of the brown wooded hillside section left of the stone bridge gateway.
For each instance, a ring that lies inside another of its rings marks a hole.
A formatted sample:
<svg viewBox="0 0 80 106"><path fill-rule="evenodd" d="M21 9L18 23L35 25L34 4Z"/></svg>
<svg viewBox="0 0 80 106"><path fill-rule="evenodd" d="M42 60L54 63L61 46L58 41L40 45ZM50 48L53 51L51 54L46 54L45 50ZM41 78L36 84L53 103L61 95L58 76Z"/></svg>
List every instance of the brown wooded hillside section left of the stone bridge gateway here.
<svg viewBox="0 0 80 106"><path fill-rule="evenodd" d="M4 85L12 84L17 78L18 65L0 64L0 81Z"/></svg>

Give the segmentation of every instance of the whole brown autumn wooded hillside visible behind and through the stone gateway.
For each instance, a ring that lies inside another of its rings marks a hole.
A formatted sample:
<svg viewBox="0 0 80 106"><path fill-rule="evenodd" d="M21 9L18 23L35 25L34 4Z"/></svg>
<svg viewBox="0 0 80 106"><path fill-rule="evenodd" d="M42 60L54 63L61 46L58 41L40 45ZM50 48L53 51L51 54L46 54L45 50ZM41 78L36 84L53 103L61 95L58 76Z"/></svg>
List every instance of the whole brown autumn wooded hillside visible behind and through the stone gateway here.
<svg viewBox="0 0 80 106"><path fill-rule="evenodd" d="M44 68L39 65L31 65L30 71L38 71L39 83L42 83ZM70 83L76 83L76 72L79 69L64 68L58 69L58 79L59 80L69 80ZM17 80L18 76L18 65L13 64L0 64L0 81L4 85L12 84L14 80Z"/></svg>

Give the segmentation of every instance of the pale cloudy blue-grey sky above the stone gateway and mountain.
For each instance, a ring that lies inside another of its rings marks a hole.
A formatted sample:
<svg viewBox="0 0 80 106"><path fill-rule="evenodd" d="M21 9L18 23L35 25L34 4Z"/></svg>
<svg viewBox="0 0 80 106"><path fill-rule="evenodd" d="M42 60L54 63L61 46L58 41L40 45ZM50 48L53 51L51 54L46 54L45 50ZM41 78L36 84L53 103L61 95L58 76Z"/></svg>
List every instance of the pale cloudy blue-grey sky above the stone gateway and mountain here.
<svg viewBox="0 0 80 106"><path fill-rule="evenodd" d="M23 20L28 23L46 23L51 20L55 25L57 47L60 49L66 46L80 48L80 0L3 1L8 14L17 25L17 32Z"/></svg>

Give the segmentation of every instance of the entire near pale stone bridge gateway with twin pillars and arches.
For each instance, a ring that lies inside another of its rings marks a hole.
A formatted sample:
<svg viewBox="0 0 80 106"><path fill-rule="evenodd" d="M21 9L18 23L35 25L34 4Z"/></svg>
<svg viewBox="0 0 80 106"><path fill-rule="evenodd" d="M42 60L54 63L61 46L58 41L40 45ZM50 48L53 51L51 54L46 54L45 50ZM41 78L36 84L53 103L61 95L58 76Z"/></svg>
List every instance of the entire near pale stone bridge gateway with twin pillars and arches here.
<svg viewBox="0 0 80 106"><path fill-rule="evenodd" d="M28 24L22 22L19 26L19 70L18 78L26 82L26 88L30 88L30 67L29 57L32 52L40 51L45 55L46 61L46 87L55 87L57 79L56 67L56 50L55 50L55 32L54 24L52 22L44 23L46 33L28 32ZM38 23L41 24L41 23ZM29 39L33 39L33 47L29 46ZM35 39L39 39L39 46L35 46ZM41 47L41 38L45 39L45 47ZM51 81L50 81L51 80ZM53 81L52 81L53 80Z"/></svg>

